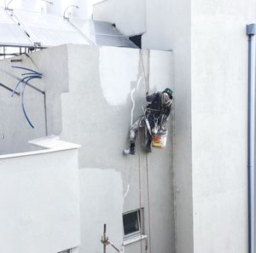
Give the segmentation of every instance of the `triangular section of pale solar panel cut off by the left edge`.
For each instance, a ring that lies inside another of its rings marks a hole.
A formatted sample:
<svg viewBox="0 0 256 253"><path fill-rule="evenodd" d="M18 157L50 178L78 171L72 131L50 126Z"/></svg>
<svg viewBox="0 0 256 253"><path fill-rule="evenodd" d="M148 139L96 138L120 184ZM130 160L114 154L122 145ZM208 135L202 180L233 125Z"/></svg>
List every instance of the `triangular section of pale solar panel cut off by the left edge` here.
<svg viewBox="0 0 256 253"><path fill-rule="evenodd" d="M26 33L21 31L20 26L3 8L0 8L0 45L24 47L33 45Z"/></svg>

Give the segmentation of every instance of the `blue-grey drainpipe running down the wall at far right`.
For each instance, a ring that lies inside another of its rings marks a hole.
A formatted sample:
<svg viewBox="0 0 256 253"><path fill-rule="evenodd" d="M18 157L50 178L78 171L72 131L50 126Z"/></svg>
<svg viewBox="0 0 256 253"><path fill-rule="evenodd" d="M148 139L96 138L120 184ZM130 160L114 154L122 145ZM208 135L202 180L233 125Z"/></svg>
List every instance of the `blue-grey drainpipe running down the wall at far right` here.
<svg viewBox="0 0 256 253"><path fill-rule="evenodd" d="M254 135L255 135L255 24L247 25L248 36L248 252L254 253Z"/></svg>

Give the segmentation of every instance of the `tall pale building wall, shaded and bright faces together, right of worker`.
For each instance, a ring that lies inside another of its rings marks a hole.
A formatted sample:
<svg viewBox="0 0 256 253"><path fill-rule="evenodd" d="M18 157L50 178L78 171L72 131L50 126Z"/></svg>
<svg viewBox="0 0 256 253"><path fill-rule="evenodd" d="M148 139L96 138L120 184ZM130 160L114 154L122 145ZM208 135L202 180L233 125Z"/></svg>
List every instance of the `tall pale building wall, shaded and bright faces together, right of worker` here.
<svg viewBox="0 0 256 253"><path fill-rule="evenodd" d="M253 0L147 2L143 47L174 55L177 252L247 252L246 25L254 12Z"/></svg>

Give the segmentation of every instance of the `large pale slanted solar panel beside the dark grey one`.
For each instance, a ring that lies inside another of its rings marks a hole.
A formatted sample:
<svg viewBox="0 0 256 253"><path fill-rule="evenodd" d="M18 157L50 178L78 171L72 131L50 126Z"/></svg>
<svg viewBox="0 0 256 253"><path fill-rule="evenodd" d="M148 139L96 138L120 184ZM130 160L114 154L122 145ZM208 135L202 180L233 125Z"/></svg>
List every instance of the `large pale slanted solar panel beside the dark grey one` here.
<svg viewBox="0 0 256 253"><path fill-rule="evenodd" d="M86 39L61 16L14 10L17 20L26 27L34 43L52 47L64 43L89 44Z"/></svg>

